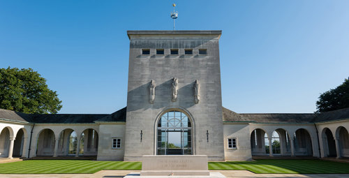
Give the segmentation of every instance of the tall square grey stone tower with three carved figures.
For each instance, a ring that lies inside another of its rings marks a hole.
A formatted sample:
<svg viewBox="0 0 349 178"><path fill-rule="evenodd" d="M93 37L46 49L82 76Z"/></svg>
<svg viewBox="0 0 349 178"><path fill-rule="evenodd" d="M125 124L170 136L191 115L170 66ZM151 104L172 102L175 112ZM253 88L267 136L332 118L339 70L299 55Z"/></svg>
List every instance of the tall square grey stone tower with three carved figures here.
<svg viewBox="0 0 349 178"><path fill-rule="evenodd" d="M223 161L221 31L128 31L125 161L207 155Z"/></svg>

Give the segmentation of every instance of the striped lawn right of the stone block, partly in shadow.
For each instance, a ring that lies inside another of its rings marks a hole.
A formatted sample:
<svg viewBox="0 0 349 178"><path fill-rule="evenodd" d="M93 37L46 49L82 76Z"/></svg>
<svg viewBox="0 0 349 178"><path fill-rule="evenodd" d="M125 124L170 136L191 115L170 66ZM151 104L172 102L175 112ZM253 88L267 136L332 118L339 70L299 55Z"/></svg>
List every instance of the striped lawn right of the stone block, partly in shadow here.
<svg viewBox="0 0 349 178"><path fill-rule="evenodd" d="M249 170L258 174L349 174L349 163L317 159L258 159L209 162L209 170Z"/></svg>

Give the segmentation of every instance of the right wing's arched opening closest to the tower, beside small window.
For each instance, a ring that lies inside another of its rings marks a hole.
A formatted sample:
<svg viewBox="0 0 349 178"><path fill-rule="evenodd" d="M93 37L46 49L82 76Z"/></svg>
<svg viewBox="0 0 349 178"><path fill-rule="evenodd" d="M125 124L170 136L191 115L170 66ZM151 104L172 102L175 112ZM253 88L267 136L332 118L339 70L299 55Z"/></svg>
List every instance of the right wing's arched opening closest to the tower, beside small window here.
<svg viewBox="0 0 349 178"><path fill-rule="evenodd" d="M252 156L265 156L269 148L265 147L265 135L269 138L268 133L262 128L255 128L251 132L251 154ZM268 141L269 144L269 141Z"/></svg>

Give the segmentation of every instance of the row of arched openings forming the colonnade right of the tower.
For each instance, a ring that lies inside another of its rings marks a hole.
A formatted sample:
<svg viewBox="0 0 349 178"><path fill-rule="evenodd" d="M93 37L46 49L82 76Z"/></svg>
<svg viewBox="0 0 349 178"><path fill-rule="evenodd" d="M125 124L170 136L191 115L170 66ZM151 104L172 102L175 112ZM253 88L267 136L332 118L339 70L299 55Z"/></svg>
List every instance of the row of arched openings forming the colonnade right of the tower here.
<svg viewBox="0 0 349 178"><path fill-rule="evenodd" d="M345 127L337 126L335 131L325 127L314 133L306 128L294 132L285 128L255 128L251 132L252 156L349 157L349 134Z"/></svg>

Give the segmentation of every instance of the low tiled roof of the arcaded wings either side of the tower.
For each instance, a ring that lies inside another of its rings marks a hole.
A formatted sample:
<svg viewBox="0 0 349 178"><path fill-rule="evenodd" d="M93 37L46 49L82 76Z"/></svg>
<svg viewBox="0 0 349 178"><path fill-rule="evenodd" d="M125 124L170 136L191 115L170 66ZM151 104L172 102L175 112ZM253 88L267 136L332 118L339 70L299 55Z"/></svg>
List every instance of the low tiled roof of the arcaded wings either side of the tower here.
<svg viewBox="0 0 349 178"><path fill-rule="evenodd" d="M246 123L280 123L280 124L313 124L327 121L349 119L349 107L341 110L314 113L265 113L238 114L223 107L223 121ZM24 114L0 109L0 120L27 123L94 123L94 122L125 122L126 107L112 114Z"/></svg>

